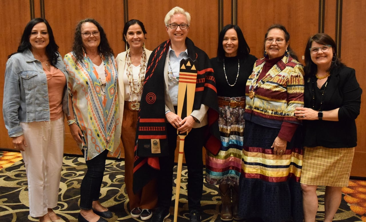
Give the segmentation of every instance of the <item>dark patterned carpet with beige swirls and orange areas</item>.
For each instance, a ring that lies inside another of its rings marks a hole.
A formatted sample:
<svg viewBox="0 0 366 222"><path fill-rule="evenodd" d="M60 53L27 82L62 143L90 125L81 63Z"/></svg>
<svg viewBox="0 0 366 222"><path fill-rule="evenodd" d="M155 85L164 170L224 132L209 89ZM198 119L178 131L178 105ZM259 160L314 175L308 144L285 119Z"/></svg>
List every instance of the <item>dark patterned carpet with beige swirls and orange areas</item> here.
<svg viewBox="0 0 366 222"><path fill-rule="evenodd" d="M12 157L10 157L12 156ZM12 161L10 160L12 159ZM79 188L86 171L85 161L81 157L65 156L61 173L59 204L56 213L65 221L75 222L79 212ZM5 165L1 165L5 164ZM19 153L0 151L0 221L38 221L29 216L29 202L27 192L27 178L24 162ZM183 167L182 189L180 192L178 221L188 219L187 204L187 169ZM319 210L317 220L324 218L324 187L317 191L319 196ZM220 196L218 188L204 184L202 198L202 221L220 221L219 207ZM173 188L173 198L175 188ZM337 211L334 221L336 222L361 222L366 221L366 181L352 181L350 187L343 189L347 193L342 199L340 209ZM364 198L364 199L362 199ZM113 212L112 221L140 221L129 215L128 199L124 185L124 161L107 160L103 184L101 188L101 203ZM171 203L171 216L165 222L173 221L174 202ZM353 211L352 211L352 210ZM358 214L354 213L357 212ZM362 217L363 215L363 217ZM253 220L252 220L253 221Z"/></svg>

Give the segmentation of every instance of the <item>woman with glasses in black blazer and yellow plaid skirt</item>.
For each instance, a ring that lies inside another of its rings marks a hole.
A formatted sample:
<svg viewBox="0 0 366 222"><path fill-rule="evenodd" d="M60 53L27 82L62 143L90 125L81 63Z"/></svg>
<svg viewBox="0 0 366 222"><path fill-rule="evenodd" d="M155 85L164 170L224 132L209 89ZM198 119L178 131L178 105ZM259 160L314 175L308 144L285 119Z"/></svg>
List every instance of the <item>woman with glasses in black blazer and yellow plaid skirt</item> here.
<svg viewBox="0 0 366 222"><path fill-rule="evenodd" d="M305 222L315 221L318 186L325 186L324 222L331 222L348 185L360 113L361 94L355 70L337 57L333 39L315 34L305 49L305 107L296 108L303 120L304 160L301 188Z"/></svg>

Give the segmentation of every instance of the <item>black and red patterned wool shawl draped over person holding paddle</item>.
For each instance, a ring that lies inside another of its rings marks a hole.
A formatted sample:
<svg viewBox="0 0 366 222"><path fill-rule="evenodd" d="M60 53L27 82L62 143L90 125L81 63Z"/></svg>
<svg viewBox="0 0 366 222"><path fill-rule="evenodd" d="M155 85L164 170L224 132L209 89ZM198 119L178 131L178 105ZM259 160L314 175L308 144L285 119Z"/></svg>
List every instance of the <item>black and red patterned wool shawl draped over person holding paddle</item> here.
<svg viewBox="0 0 366 222"><path fill-rule="evenodd" d="M160 154L151 154L150 157L138 157L135 152L134 162L134 192L140 190L159 169L159 156L168 155L168 142L165 120L165 81L164 66L170 46L170 40L158 46L149 58L147 64L145 83L141 97L141 109L137 123L137 145L138 149L151 147L151 139L159 139ZM209 107L208 110L208 131L206 132L205 147L212 153L217 154L220 149L220 133L217 119L219 108L217 104L216 83L213 76L213 69L207 54L194 46L194 43L186 38L188 57L198 61L197 81L194 96L193 110L198 110L201 104ZM213 99L214 98L214 99ZM151 150L151 148L150 148ZM148 151L149 152L149 151ZM148 153L147 152L147 153ZM146 176L151 175L151 176Z"/></svg>

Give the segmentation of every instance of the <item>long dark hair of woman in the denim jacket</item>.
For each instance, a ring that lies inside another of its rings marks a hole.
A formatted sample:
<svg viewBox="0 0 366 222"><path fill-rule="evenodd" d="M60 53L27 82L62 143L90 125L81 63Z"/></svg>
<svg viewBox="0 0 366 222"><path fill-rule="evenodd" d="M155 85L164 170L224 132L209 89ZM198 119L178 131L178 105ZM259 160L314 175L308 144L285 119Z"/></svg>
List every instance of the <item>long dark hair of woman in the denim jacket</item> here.
<svg viewBox="0 0 366 222"><path fill-rule="evenodd" d="M53 36L52 28L46 19L35 18L28 22L28 24L24 28L22 39L20 39L20 44L18 46L18 50L16 51L16 53L22 53L27 49L29 49L29 50L32 49L32 46L29 42L29 37L30 37L33 27L40 22L43 22L46 24L48 37L49 37L49 43L46 46L46 55L47 55L51 65L56 65L57 58L59 57L59 53L58 53L59 46L57 46L57 44L55 42L55 37ZM11 55L8 56L8 58L10 58L14 54L15 53L12 53Z"/></svg>

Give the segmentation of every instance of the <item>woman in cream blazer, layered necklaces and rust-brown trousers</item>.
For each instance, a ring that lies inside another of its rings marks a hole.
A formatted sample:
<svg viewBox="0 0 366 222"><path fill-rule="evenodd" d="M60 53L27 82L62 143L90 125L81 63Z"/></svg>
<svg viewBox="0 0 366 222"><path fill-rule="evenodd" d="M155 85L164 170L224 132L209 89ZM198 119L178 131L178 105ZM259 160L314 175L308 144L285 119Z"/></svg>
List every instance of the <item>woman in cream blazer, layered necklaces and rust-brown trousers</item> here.
<svg viewBox="0 0 366 222"><path fill-rule="evenodd" d="M140 217L143 221L152 217L152 209L157 203L156 180L149 181L137 193L132 190L138 111L147 61L152 52L145 48L146 34L145 26L141 21L132 19L126 22L123 28L123 41L126 43L127 50L116 57L119 73L119 119L122 121L121 140L125 163L124 182L131 217Z"/></svg>

